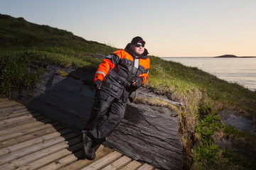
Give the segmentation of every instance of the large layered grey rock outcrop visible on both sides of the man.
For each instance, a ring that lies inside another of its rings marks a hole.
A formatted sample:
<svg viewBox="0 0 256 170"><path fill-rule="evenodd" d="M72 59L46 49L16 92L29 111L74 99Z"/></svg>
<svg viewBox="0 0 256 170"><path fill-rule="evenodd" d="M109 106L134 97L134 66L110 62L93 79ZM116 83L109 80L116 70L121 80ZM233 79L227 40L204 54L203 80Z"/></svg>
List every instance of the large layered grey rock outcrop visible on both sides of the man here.
<svg viewBox="0 0 256 170"><path fill-rule="evenodd" d="M14 93L16 101L26 104L62 125L80 132L87 124L94 100L93 75L84 69L64 69L48 65L35 89ZM60 77L56 72L68 72ZM173 105L162 96L137 91L137 98L157 98ZM182 169L183 147L179 134L180 114L177 109L128 103L124 119L104 145L138 161L160 169Z"/></svg>

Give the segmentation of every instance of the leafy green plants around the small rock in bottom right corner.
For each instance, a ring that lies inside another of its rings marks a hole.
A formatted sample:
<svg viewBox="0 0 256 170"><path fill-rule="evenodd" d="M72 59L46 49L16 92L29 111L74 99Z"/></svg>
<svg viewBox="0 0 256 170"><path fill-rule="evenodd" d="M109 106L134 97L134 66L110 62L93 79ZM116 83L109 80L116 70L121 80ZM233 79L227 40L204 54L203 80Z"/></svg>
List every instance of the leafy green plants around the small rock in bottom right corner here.
<svg viewBox="0 0 256 170"><path fill-rule="evenodd" d="M252 142L252 146L256 145L255 135L236 130L232 125L221 124L218 115L205 115L198 120L196 132L200 135L201 145L196 145L193 149L196 163L193 164L192 169L255 169L256 162L252 157L235 153L227 148L220 149L214 143L213 134L224 132L226 137L230 135L242 137L242 140Z"/></svg>

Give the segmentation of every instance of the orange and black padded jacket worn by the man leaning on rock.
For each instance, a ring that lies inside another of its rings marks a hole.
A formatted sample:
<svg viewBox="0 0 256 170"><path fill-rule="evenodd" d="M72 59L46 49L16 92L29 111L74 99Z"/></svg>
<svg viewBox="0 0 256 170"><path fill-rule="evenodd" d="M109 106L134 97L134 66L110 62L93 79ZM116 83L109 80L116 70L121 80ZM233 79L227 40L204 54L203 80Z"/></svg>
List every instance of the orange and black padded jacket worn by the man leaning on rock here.
<svg viewBox="0 0 256 170"><path fill-rule="evenodd" d="M142 77L144 84L149 77L149 53L145 48L144 53L136 58L130 51L130 45L105 57L95 74L94 81L102 81L101 89L118 99L122 96L127 98L136 90L132 81Z"/></svg>

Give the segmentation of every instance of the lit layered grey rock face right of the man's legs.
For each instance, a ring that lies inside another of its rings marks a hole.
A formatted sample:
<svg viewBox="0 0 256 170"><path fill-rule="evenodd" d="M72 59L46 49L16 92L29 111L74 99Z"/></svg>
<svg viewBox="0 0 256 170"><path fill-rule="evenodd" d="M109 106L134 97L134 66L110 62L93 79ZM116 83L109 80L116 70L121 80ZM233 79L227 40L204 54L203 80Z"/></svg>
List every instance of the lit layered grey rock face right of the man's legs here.
<svg viewBox="0 0 256 170"><path fill-rule="evenodd" d="M183 166L178 116L168 108L128 104L124 120L105 145L164 169Z"/></svg>

